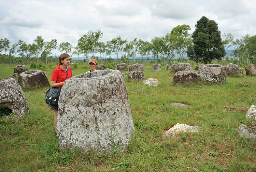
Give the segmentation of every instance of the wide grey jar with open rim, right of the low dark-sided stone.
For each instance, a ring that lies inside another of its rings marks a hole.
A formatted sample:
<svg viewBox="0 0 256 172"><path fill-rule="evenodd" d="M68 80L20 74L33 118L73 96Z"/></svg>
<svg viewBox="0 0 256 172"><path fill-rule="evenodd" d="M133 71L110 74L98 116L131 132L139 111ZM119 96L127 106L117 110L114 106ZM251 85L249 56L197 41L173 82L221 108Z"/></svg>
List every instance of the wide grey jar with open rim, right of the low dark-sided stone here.
<svg viewBox="0 0 256 172"><path fill-rule="evenodd" d="M226 82L225 67L207 67L202 66L200 69L200 78L203 82L223 83Z"/></svg>

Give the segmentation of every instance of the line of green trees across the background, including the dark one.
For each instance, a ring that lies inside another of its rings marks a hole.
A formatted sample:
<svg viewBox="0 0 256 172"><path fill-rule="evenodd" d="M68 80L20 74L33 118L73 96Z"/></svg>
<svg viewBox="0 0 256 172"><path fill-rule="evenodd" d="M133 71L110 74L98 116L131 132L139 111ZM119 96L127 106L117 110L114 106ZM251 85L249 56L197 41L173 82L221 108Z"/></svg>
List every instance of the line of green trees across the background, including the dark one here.
<svg viewBox="0 0 256 172"><path fill-rule="evenodd" d="M186 53L190 60L202 62L204 64L210 63L212 60L221 60L226 52L225 49L234 46L232 55L242 60L246 59L246 64L253 62L256 53L256 35L251 36L246 34L240 39L234 40L231 33L224 33L218 30L218 24L214 20L209 20L202 16L195 25L196 30L191 31L188 25L178 25L167 33L165 36L156 36L152 38L151 42L143 41L140 38L134 38L132 41L127 41L117 36L109 41L102 42L103 33L100 30L88 31L77 42L75 47L69 42L61 42L58 45L56 39L45 42L42 36L37 36L32 44L27 44L22 40L12 44L8 38L0 39L0 52L9 52L9 55L18 54L22 58L35 58L37 62L40 59L47 63L47 60L52 59L53 54L56 57L56 49L60 52L81 55L88 61L88 55L92 54L93 58L98 57L107 58L111 53L117 55L119 52L124 52L120 59L126 63L129 58L136 59L140 54L142 59L151 55L154 60L167 59L175 60L177 57L182 60ZM97 56L97 54L99 56Z"/></svg>

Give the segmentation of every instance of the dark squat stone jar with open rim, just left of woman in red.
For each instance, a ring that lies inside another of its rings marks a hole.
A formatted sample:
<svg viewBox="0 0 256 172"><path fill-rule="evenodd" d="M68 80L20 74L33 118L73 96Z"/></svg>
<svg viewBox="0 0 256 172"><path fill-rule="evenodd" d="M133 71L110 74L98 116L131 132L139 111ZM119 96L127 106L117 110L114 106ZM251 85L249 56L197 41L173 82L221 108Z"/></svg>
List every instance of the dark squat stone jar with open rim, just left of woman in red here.
<svg viewBox="0 0 256 172"><path fill-rule="evenodd" d="M50 87L47 77L40 70L26 71L19 74L18 83L22 88Z"/></svg>

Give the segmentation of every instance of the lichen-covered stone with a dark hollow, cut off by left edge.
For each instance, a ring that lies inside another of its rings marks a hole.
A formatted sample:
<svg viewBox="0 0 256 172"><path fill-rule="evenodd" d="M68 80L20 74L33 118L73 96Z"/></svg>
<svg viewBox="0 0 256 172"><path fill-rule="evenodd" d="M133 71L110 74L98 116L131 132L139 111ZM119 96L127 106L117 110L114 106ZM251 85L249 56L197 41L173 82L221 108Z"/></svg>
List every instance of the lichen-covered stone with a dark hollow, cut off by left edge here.
<svg viewBox="0 0 256 172"><path fill-rule="evenodd" d="M8 106L16 120L23 119L29 112L22 88L15 79L0 80L0 106Z"/></svg>

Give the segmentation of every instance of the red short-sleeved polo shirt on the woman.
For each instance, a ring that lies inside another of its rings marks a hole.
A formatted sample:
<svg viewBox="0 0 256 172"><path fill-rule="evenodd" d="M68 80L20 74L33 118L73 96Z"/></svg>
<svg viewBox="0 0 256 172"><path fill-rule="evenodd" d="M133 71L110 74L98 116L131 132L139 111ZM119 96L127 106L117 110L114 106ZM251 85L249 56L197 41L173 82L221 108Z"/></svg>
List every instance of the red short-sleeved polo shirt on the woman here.
<svg viewBox="0 0 256 172"><path fill-rule="evenodd" d="M68 77L67 79L72 77L72 69L68 67ZM51 80L56 81L56 83L63 82L66 80L67 73L64 69L60 67L60 64L53 70ZM63 85L57 88L62 88Z"/></svg>

